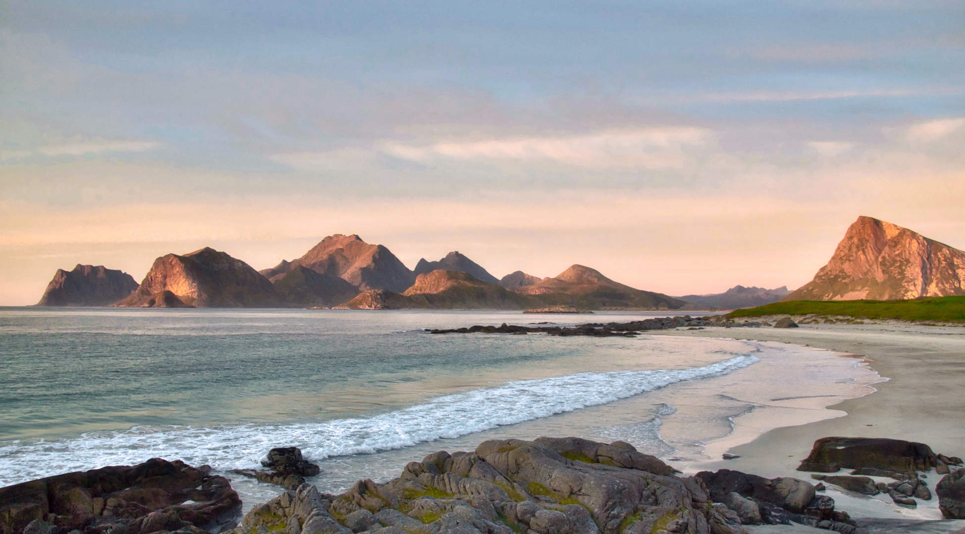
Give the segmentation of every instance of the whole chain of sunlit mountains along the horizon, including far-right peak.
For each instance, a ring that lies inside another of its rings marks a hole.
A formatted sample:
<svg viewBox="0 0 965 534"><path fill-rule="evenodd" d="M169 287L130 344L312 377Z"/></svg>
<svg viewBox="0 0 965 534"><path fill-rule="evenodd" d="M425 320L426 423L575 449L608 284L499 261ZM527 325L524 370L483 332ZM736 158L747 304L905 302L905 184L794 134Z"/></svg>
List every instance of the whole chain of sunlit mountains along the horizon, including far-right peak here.
<svg viewBox="0 0 965 534"><path fill-rule="evenodd" d="M827 265L791 292L736 285L724 293L671 297L574 264L556 277L515 271L497 279L452 252L409 270L383 245L335 234L292 260L256 271L204 248L154 260L138 284L104 266L59 269L37 306L305 307L349 309L739 309L790 301L895 301L965 295L965 253L907 228L859 217ZM573 309L576 311L561 311Z"/></svg>

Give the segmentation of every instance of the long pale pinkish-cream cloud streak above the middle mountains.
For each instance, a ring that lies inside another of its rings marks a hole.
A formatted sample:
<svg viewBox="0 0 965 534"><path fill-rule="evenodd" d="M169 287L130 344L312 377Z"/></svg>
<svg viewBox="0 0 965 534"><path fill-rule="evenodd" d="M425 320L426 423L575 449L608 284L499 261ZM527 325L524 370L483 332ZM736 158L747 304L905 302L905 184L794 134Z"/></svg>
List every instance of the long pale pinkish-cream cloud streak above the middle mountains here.
<svg viewBox="0 0 965 534"><path fill-rule="evenodd" d="M691 126L607 130L587 135L510 137L484 141L444 141L428 147L385 144L391 155L412 161L553 161L576 167L677 169L686 147L707 145L712 132Z"/></svg>

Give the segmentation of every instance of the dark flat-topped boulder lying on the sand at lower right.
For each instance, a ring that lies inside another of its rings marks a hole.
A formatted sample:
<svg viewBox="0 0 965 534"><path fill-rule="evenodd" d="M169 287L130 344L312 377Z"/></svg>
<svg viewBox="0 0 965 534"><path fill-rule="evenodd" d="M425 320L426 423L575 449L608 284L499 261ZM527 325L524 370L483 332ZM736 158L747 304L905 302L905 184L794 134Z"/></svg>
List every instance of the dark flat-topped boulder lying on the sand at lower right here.
<svg viewBox="0 0 965 534"><path fill-rule="evenodd" d="M814 441L811 454L797 469L833 472L831 469L840 467L873 467L914 473L916 469L934 467L937 461L931 447L924 443L887 438L821 438Z"/></svg>

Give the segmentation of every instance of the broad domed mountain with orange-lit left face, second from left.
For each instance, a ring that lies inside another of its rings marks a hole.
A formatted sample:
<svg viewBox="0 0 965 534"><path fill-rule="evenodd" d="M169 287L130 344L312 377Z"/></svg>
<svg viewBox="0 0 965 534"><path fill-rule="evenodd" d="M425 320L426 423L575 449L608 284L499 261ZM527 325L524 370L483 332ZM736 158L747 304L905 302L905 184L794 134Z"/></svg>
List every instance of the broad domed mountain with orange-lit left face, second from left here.
<svg viewBox="0 0 965 534"><path fill-rule="evenodd" d="M207 247L191 254L167 254L155 259L137 291L114 306L177 306L164 299L164 290L194 307L289 306L275 286L247 263ZM154 304L150 304L152 301Z"/></svg>

